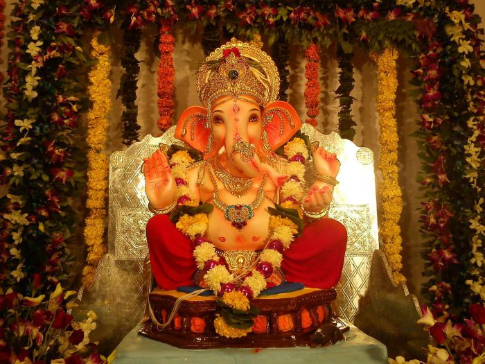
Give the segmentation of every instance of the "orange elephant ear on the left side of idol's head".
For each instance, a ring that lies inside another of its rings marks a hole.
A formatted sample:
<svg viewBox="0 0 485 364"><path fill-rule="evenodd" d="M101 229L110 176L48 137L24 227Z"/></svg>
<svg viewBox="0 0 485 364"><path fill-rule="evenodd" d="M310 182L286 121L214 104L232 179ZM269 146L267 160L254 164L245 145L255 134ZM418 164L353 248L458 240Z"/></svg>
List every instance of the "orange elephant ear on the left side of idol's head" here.
<svg viewBox="0 0 485 364"><path fill-rule="evenodd" d="M207 110L202 106L187 107L177 121L175 137L204 153L211 130L206 128Z"/></svg>

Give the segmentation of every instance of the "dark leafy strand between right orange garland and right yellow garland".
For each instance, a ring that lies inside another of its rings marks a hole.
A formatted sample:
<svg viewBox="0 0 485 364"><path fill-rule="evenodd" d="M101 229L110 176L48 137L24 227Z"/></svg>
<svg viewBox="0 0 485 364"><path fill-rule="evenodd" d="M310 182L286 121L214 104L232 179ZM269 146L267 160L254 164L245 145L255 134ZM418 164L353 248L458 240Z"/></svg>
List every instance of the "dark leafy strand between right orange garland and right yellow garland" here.
<svg viewBox="0 0 485 364"><path fill-rule="evenodd" d="M342 46L337 47L337 58L339 72L339 87L335 90L335 94L339 99L340 111L339 117L339 132L343 139L353 140L355 136L355 121L353 120L352 104L355 98L351 96L354 86L353 79L353 52L346 53Z"/></svg>

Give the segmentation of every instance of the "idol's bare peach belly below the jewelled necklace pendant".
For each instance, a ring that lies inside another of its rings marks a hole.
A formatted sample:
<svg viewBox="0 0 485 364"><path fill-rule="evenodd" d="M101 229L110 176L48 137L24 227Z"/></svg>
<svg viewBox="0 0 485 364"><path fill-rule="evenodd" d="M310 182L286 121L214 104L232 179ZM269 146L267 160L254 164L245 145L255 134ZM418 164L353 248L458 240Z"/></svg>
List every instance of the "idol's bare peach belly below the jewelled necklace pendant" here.
<svg viewBox="0 0 485 364"><path fill-rule="evenodd" d="M265 248L269 234L269 206L274 207L274 204L265 199L254 211L254 216L247 221L247 225L240 230L226 220L223 211L214 207L209 214L207 237L220 250L261 250Z"/></svg>

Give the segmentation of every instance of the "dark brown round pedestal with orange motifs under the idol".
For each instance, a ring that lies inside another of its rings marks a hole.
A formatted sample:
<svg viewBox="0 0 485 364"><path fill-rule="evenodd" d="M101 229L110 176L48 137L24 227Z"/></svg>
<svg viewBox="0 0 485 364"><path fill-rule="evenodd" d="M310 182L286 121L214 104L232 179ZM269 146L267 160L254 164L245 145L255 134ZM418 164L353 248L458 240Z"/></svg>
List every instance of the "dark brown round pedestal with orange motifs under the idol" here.
<svg viewBox="0 0 485 364"><path fill-rule="evenodd" d="M165 322L182 295L177 291L152 291L149 300L155 318ZM252 304L261 310L263 324L258 329L262 332L251 332L243 338L225 338L215 333L213 320L218 313L215 297L191 297L180 304L176 318L166 329L161 330L148 320L139 334L183 349L316 346L310 335L322 324L335 322L330 304L336 297L334 289L313 288L258 297Z"/></svg>

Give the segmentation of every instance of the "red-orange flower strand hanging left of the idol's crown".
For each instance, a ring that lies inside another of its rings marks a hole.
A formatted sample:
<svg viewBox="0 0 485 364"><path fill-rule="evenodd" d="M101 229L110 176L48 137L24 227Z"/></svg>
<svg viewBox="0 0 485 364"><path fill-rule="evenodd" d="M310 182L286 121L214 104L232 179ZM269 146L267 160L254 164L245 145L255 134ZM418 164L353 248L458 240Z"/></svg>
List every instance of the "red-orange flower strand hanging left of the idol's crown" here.
<svg viewBox="0 0 485 364"><path fill-rule="evenodd" d="M175 49L175 37L173 36L173 26L170 21L161 21L160 31L160 62L158 67L158 110L159 119L157 125L164 132L173 123L173 110L175 103L174 96L174 79L175 68L173 67L173 51Z"/></svg>

